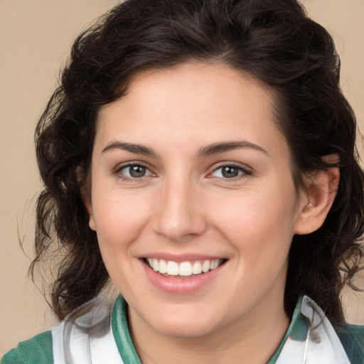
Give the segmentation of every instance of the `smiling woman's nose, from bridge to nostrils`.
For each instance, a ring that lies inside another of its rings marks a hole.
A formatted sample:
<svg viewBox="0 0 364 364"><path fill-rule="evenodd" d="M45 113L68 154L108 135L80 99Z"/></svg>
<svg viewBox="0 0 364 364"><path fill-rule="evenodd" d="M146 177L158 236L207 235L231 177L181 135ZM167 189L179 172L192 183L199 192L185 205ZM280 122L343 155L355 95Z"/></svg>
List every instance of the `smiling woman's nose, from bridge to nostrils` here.
<svg viewBox="0 0 364 364"><path fill-rule="evenodd" d="M158 235L181 242L206 229L200 193L193 182L175 178L162 183L153 227Z"/></svg>

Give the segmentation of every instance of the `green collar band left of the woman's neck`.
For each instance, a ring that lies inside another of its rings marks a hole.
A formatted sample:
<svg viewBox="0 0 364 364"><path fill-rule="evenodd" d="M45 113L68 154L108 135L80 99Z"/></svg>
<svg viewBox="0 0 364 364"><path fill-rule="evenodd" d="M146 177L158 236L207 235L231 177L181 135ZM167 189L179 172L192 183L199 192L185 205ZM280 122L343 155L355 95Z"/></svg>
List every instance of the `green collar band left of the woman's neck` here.
<svg viewBox="0 0 364 364"><path fill-rule="evenodd" d="M137 354L137 350L134 348L134 343L129 333L127 313L127 302L119 294L112 309L112 333L114 334L114 339L124 364L141 364L141 360Z"/></svg>

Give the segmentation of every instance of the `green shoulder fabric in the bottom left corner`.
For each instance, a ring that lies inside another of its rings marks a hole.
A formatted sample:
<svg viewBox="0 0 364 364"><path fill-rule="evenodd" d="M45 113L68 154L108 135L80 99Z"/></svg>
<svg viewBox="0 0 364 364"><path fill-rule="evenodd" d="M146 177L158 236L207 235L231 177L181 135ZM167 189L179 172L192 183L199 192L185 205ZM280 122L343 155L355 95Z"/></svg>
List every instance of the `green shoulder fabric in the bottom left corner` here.
<svg viewBox="0 0 364 364"><path fill-rule="evenodd" d="M4 355L0 364L53 364L52 333L45 331L18 343Z"/></svg>

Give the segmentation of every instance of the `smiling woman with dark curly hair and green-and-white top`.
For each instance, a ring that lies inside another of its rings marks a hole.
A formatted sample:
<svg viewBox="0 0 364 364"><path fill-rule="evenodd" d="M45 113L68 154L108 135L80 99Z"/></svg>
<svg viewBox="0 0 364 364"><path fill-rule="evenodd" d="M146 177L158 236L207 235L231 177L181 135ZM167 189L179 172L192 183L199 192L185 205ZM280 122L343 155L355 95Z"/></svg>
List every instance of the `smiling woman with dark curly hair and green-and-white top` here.
<svg viewBox="0 0 364 364"><path fill-rule="evenodd" d="M31 269L59 244L62 322L1 363L364 363L338 81L293 0L128 0L77 38L36 129Z"/></svg>

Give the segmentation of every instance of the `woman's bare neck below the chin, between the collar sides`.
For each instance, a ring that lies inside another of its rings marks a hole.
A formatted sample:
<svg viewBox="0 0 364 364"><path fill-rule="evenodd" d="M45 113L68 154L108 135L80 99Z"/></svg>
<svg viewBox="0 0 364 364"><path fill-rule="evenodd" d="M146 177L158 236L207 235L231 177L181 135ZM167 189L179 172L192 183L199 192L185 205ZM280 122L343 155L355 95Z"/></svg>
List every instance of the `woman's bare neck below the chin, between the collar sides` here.
<svg viewBox="0 0 364 364"><path fill-rule="evenodd" d="M143 364L263 364L277 349L289 326L283 297L279 301L277 304L269 297L234 322L193 338L157 332L132 310L129 326Z"/></svg>

